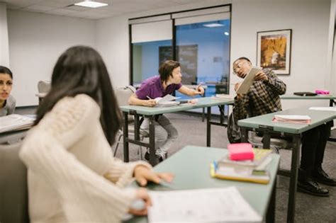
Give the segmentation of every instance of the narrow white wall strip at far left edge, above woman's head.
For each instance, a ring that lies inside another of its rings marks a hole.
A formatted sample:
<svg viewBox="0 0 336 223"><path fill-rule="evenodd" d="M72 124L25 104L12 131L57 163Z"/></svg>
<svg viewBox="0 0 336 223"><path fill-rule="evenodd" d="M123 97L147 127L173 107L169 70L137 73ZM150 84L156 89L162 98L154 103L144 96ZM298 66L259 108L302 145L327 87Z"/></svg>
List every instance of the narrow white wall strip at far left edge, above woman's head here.
<svg viewBox="0 0 336 223"><path fill-rule="evenodd" d="M7 9L4 2L0 2L0 65L9 67L9 33Z"/></svg>

